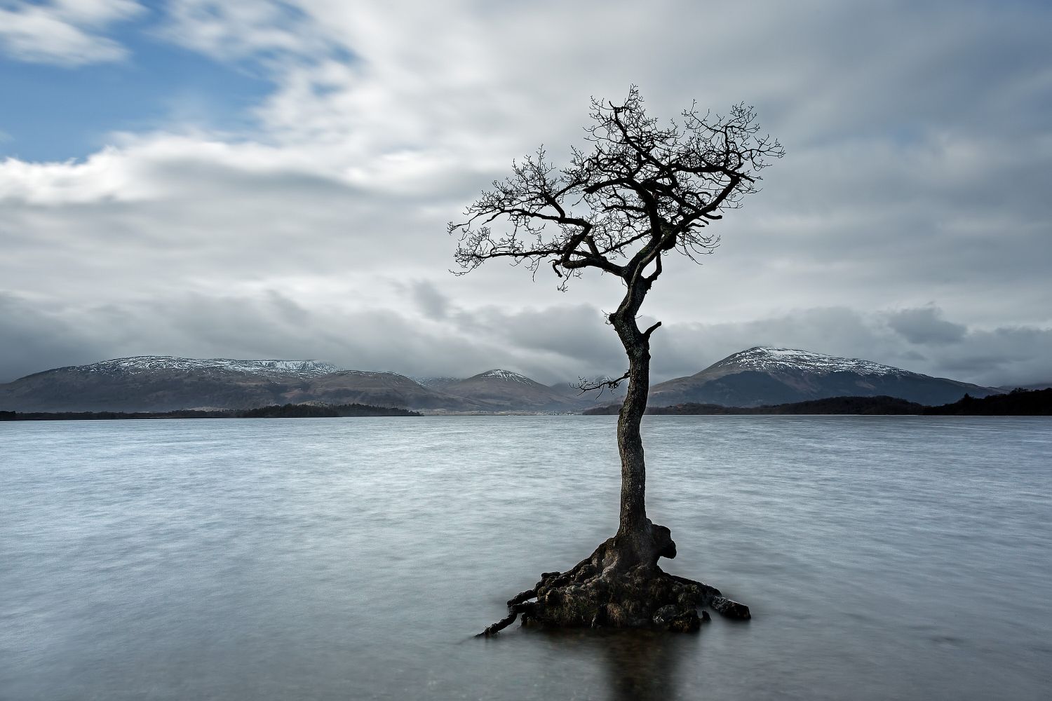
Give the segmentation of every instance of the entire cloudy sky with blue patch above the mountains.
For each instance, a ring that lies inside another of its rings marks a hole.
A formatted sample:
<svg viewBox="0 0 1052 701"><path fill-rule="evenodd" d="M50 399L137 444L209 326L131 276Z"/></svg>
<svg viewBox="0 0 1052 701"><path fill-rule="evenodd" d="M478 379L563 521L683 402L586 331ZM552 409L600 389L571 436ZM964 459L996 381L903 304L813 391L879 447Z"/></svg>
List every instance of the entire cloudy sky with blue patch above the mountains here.
<svg viewBox="0 0 1052 701"><path fill-rule="evenodd" d="M1052 380L1052 5L0 0L0 382L130 355L620 375L610 275L450 273L592 97L786 157L669 260L655 382L767 345Z"/></svg>

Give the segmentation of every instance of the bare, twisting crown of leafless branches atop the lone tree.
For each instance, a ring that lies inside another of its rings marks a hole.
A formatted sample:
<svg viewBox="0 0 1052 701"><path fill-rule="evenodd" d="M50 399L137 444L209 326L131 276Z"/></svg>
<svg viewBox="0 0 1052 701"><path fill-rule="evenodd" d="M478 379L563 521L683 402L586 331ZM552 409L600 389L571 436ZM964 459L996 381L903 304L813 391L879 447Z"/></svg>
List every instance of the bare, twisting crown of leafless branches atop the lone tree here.
<svg viewBox="0 0 1052 701"><path fill-rule="evenodd" d="M574 147L568 166L555 166L542 147L493 181L465 221L449 224L460 235L462 273L490 259L534 272L548 263L565 289L585 268L633 285L654 263L652 283L665 252L710 253L719 236L706 226L757 191L758 172L784 153L745 104L726 115L692 105L679 122L663 124L647 116L632 86L621 104L593 98L590 117L589 146ZM494 229L498 220L504 226Z"/></svg>

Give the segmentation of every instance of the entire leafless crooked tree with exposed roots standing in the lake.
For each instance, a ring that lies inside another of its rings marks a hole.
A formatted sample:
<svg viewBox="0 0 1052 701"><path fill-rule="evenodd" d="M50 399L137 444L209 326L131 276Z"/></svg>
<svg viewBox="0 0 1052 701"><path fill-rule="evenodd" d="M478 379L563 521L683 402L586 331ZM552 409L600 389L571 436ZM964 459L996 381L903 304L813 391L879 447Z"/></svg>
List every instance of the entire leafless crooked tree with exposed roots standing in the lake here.
<svg viewBox="0 0 1052 701"><path fill-rule="evenodd" d="M491 259L509 259L534 274L550 265L560 289L588 268L616 275L625 287L609 322L625 347L628 370L582 384L614 388L628 380L618 418L618 533L570 571L544 573L532 590L508 602L505 619L481 635L497 633L519 614L524 623L673 630L696 630L696 607L705 604L749 615L717 590L658 566L660 557L675 557L675 543L667 528L647 518L640 424L650 385L650 336L661 322L640 329L636 316L662 274L664 256L677 251L696 261L711 253L719 238L706 227L756 192L758 171L784 151L761 135L755 111L744 104L727 115L691 106L680 122L665 124L646 115L633 86L622 104L592 99L590 117L588 146L573 148L567 167L558 168L540 148L483 191L467 207L466 221L448 226L460 238L460 274Z"/></svg>

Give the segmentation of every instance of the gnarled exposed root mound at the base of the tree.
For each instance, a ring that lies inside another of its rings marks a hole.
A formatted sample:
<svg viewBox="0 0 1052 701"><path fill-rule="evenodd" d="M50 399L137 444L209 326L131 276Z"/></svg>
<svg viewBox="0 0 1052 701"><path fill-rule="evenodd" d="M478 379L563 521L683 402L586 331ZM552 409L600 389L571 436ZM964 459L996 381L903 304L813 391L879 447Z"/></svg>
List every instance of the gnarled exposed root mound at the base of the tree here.
<svg viewBox="0 0 1052 701"><path fill-rule="evenodd" d="M650 537L613 537L568 572L545 572L533 589L508 601L508 615L477 637L489 637L522 616L523 625L665 628L689 633L709 620L711 606L730 618L750 618L749 607L720 590L670 575L659 557L675 557L668 529L647 522Z"/></svg>

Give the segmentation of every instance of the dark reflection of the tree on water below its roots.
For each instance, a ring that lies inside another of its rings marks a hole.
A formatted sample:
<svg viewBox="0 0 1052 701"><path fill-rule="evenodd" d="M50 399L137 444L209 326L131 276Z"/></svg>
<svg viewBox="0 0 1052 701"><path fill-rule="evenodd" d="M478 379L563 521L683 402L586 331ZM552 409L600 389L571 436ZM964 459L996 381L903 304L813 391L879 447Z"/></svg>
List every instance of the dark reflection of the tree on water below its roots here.
<svg viewBox="0 0 1052 701"><path fill-rule="evenodd" d="M610 701L697 698L699 689L681 688L684 662L700 654L700 634L664 631L532 631L560 657L594 662Z"/></svg>

